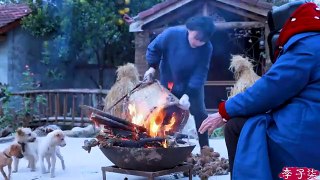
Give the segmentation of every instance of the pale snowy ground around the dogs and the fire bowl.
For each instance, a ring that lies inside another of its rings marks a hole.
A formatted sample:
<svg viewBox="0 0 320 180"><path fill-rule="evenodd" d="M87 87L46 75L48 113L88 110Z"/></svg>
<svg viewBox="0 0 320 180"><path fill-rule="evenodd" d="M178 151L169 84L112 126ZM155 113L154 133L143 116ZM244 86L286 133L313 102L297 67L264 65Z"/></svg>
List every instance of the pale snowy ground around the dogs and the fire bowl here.
<svg viewBox="0 0 320 180"><path fill-rule="evenodd" d="M112 163L102 154L99 148L94 147L90 154L82 149L83 141L85 138L66 138L67 146L61 148L61 152L65 159L66 170L63 171L60 161L57 159L56 164L56 180L101 180L102 166L109 166ZM0 144L0 150L3 151L12 142L7 142ZM221 154L221 157L227 157L226 146L224 139L211 139L210 146L214 148L215 151ZM194 149L193 153L199 153L199 145ZM12 180L48 180L50 174L41 174L39 168L39 162L37 163L37 171L30 172L27 168L27 161L22 159L20 161L20 168L18 173L12 174ZM7 172L7 168L5 168ZM129 180L143 180L146 179L140 176L123 175L117 173L107 172L108 180L123 180L124 178ZM2 179L0 174L0 179ZM174 180L173 175L161 176L156 178L158 180ZM188 178L181 178L188 179ZM193 179L200 179L194 177ZM224 176L213 176L210 180L227 180L230 179L229 175Z"/></svg>

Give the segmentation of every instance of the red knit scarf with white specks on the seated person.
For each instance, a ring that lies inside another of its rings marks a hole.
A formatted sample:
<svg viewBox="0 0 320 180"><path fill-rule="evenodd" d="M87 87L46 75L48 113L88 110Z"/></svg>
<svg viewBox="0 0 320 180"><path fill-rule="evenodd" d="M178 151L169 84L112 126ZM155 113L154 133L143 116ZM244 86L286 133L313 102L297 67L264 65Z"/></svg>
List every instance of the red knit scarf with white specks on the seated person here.
<svg viewBox="0 0 320 180"><path fill-rule="evenodd" d="M312 31L320 32L320 8L314 3L305 3L292 13L284 24L277 40L275 60L282 47L293 35Z"/></svg>

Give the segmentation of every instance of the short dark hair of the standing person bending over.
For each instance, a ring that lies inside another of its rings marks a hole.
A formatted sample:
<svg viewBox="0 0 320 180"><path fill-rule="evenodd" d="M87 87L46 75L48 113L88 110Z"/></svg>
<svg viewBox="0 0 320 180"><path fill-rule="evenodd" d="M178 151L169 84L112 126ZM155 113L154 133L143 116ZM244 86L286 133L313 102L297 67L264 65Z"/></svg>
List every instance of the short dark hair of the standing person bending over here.
<svg viewBox="0 0 320 180"><path fill-rule="evenodd" d="M212 34L215 31L213 19L208 16L195 16L188 19L186 27L191 31L198 31L196 39L202 42L210 40Z"/></svg>

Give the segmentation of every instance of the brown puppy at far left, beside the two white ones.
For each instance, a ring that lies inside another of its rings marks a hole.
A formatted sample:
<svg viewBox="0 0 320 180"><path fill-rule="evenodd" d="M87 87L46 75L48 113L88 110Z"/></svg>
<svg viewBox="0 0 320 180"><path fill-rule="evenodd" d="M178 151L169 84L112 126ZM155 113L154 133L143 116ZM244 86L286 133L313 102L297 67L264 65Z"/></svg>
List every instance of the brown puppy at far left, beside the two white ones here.
<svg viewBox="0 0 320 180"><path fill-rule="evenodd" d="M5 180L9 180L11 176L12 157L23 158L22 147L20 144L11 144L3 152L0 153L0 171ZM8 166L8 176L4 172L3 168Z"/></svg>

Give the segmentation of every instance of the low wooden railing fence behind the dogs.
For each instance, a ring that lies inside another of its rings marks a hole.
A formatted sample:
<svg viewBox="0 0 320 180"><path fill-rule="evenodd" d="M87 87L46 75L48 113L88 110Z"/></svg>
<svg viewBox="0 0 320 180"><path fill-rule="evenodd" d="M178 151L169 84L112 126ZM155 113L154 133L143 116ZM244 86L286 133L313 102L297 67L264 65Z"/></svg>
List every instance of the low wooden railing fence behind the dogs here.
<svg viewBox="0 0 320 180"><path fill-rule="evenodd" d="M80 105L101 109L107 92L108 90L100 89L54 89L22 91L12 95L32 101L31 108L35 113L28 122L29 126L57 124L73 127L90 123L88 115L81 110ZM44 103L37 102L37 97L44 99Z"/></svg>

